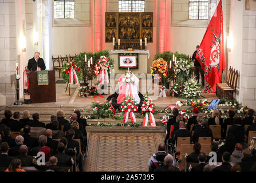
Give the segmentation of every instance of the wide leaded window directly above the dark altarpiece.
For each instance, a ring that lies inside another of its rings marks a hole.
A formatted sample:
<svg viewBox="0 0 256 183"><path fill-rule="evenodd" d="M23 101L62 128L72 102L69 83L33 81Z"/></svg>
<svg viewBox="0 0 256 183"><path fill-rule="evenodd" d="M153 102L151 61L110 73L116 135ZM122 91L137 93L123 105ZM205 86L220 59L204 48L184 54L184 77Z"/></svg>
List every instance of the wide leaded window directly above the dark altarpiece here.
<svg viewBox="0 0 256 183"><path fill-rule="evenodd" d="M130 1L122 0L119 1L119 12L144 12L145 10L145 1Z"/></svg>

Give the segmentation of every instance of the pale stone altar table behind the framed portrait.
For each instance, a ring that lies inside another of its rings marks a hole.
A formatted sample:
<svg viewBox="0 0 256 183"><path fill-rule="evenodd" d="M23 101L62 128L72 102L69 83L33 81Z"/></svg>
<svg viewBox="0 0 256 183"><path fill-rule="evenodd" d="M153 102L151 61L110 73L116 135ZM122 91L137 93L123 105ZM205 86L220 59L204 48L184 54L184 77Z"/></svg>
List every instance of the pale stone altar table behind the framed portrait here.
<svg viewBox="0 0 256 183"><path fill-rule="evenodd" d="M115 60L115 74L123 74L125 69L119 69L119 54L138 54L138 69L131 69L135 74L147 74L148 73L148 59L149 59L149 50L111 50L109 52L109 57Z"/></svg>

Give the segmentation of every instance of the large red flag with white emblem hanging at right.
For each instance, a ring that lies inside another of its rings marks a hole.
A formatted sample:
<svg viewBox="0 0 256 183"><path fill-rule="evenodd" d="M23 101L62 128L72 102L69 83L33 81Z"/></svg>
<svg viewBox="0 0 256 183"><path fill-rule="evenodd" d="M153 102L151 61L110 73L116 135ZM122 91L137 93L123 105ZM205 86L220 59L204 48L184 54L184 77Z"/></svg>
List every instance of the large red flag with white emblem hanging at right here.
<svg viewBox="0 0 256 183"><path fill-rule="evenodd" d="M216 83L222 82L225 69L223 12L220 0L200 44L196 59L204 70L206 93L216 92Z"/></svg>

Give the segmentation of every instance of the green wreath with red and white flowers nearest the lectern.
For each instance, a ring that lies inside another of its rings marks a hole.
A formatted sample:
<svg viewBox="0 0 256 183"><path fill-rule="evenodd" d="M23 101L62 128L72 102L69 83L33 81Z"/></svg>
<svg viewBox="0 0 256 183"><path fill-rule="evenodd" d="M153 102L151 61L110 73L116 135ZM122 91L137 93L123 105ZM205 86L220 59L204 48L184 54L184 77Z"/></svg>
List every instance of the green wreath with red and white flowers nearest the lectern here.
<svg viewBox="0 0 256 183"><path fill-rule="evenodd" d="M64 81L69 82L69 73L70 73L70 70L72 70L72 69L74 69L74 71L77 74L78 80L80 81L82 79L80 67L78 67L76 65L76 62L74 62L74 61L65 63L65 65L61 69L62 78L64 79ZM75 83L75 79L73 79L73 83Z"/></svg>

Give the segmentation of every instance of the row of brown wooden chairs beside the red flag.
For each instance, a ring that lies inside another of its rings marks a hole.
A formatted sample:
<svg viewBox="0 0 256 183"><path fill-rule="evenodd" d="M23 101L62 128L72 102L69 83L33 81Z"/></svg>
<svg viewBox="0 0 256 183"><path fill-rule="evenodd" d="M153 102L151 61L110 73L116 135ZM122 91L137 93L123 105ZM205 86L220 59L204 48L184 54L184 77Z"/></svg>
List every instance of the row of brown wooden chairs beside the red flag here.
<svg viewBox="0 0 256 183"><path fill-rule="evenodd" d="M228 100L234 100L235 92L237 90L238 77L238 71L235 71L235 69L232 69L232 67L230 66L227 77L227 83L216 84L216 96L218 96L219 98L224 97Z"/></svg>

